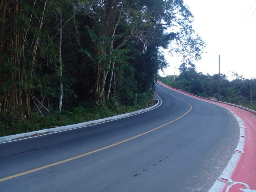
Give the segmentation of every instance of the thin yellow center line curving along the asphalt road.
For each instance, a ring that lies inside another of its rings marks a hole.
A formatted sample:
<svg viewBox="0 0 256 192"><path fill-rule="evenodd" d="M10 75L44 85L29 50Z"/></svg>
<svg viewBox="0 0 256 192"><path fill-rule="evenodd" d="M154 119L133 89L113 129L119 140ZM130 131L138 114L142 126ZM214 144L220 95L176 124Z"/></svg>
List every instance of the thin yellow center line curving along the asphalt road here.
<svg viewBox="0 0 256 192"><path fill-rule="evenodd" d="M161 89L161 88L159 88L159 89ZM163 90L163 89L162 89L162 90ZM163 91L165 91L165 90L163 90ZM165 92L168 93L167 91L165 91ZM168 94L170 94L170 93L168 93ZM170 94L170 95L172 95L172 94ZM175 97L174 95L172 95L172 96ZM177 97L175 97L175 98L177 98ZM177 99L179 99L179 98L177 98ZM181 99L179 99L179 100L181 100ZM181 101L183 101L183 100L181 100ZM185 101L183 101L183 102L185 102ZM185 102L185 103L187 103L187 102ZM39 171L39 170L42 170L42 169L46 169L46 168L48 168L48 167L52 167L52 166L55 166L55 165L59 165L59 164L61 164L61 163L65 163L65 162L68 162L68 161L72 161L72 160L74 160L74 159L78 159L78 158L80 158L80 157L84 157L84 156L86 156L86 155L89 155L89 154L92 154L92 153L96 153L96 152L98 152L98 151L102 151L102 150L104 150L104 149L113 147L113 146L115 146L115 145L118 145L118 144L121 144L121 143L130 141L130 140L135 139L135 138L138 138L138 137L140 137L140 136L142 136L142 135L146 135L146 134L148 134L148 133L150 133L150 132L152 132L152 131L155 131L155 130L157 130L157 129L160 129L161 127L164 127L164 126L166 126L166 125L169 125L170 123L173 123L174 121L177 121L178 119L180 119L180 118L184 117L186 114L188 114L188 113L191 111L192 106L191 106L189 103L187 103L187 104L190 106L190 109L189 109L185 114L183 114L183 115L179 116L178 118L176 118L176 119L174 119L174 120L172 120L172 121L170 121L170 122L168 122L168 123L165 123L165 124L163 124L163 125L161 125L161 126L159 126L159 127L157 127L157 128L151 129L151 130L149 130L149 131L146 131L145 133L136 135L136 136L134 136L134 137L125 139L125 140L123 140L123 141L114 143L114 144L112 144L112 145L108 145L108 146L106 146L106 147L102 147L102 148L100 148L100 149L90 151L90 152L88 152L88 153L84 153L84 154L81 154L81 155L78 155L78 156L75 156L75 157L72 157L72 158L69 158L69 159L65 159L65 160L58 161L58 162L55 162L55 163L51 163L51 164L48 164L48 165L45 165L45 166L42 166L42 167L38 167L38 168L36 168L36 169L31 169L31 170L29 170L29 171L25 171L25 172L22 172L22 173L18 173L18 174L15 174L15 175L11 175L11 176L9 176L9 177L4 177L4 178L0 179L0 182L6 181L6 180L8 180L8 179L15 178L15 177L19 177L19 176L22 176L22 175L26 175L26 174L29 174L29 173L33 173L33 172L35 172L35 171Z"/></svg>

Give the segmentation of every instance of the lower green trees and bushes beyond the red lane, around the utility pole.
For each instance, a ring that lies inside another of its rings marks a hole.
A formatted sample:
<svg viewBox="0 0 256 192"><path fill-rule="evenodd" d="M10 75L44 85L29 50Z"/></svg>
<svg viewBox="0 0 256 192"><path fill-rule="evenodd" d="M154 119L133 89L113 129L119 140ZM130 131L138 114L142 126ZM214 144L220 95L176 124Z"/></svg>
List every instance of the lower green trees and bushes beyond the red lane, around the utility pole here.
<svg viewBox="0 0 256 192"><path fill-rule="evenodd" d="M198 73L192 62L182 63L179 70L181 73L175 77L167 75L159 76L158 79L176 89L206 98L217 98L218 74ZM220 100L256 110L256 79L243 78L236 72L232 72L232 79L230 81L225 74L220 74Z"/></svg>

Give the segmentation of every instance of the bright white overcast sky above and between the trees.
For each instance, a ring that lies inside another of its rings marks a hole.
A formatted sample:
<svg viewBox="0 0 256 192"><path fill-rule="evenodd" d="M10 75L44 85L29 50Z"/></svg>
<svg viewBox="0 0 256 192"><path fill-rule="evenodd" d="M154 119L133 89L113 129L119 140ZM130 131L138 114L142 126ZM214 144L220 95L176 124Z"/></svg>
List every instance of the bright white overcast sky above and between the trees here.
<svg viewBox="0 0 256 192"><path fill-rule="evenodd" d="M184 0L184 3L194 15L194 30L207 44L204 51L209 52L194 62L196 70L203 74L217 74L220 54L221 73L229 79L230 71L247 79L256 78L256 1ZM178 75L181 58L175 55L170 58L167 52L164 50L170 67L160 75L174 75L175 66L175 74Z"/></svg>

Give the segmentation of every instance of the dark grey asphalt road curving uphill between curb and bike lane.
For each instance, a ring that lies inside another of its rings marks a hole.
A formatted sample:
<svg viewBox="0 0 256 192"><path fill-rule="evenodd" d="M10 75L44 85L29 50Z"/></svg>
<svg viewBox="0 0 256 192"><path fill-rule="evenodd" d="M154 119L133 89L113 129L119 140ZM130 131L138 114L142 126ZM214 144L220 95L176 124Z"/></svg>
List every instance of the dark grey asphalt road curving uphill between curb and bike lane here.
<svg viewBox="0 0 256 192"><path fill-rule="evenodd" d="M161 106L142 114L1 143L0 181L11 177L0 191L208 191L238 144L237 120L166 87L156 92Z"/></svg>

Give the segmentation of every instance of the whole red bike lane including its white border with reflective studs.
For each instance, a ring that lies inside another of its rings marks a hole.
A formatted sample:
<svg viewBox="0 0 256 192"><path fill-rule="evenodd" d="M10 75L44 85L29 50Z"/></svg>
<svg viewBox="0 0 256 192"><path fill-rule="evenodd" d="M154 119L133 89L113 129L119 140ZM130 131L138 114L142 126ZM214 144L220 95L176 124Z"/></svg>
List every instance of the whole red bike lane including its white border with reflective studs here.
<svg viewBox="0 0 256 192"><path fill-rule="evenodd" d="M256 115L235 106L196 97L162 82L158 83L189 97L220 105L233 113L239 122L240 140L233 157L209 192L256 192Z"/></svg>

